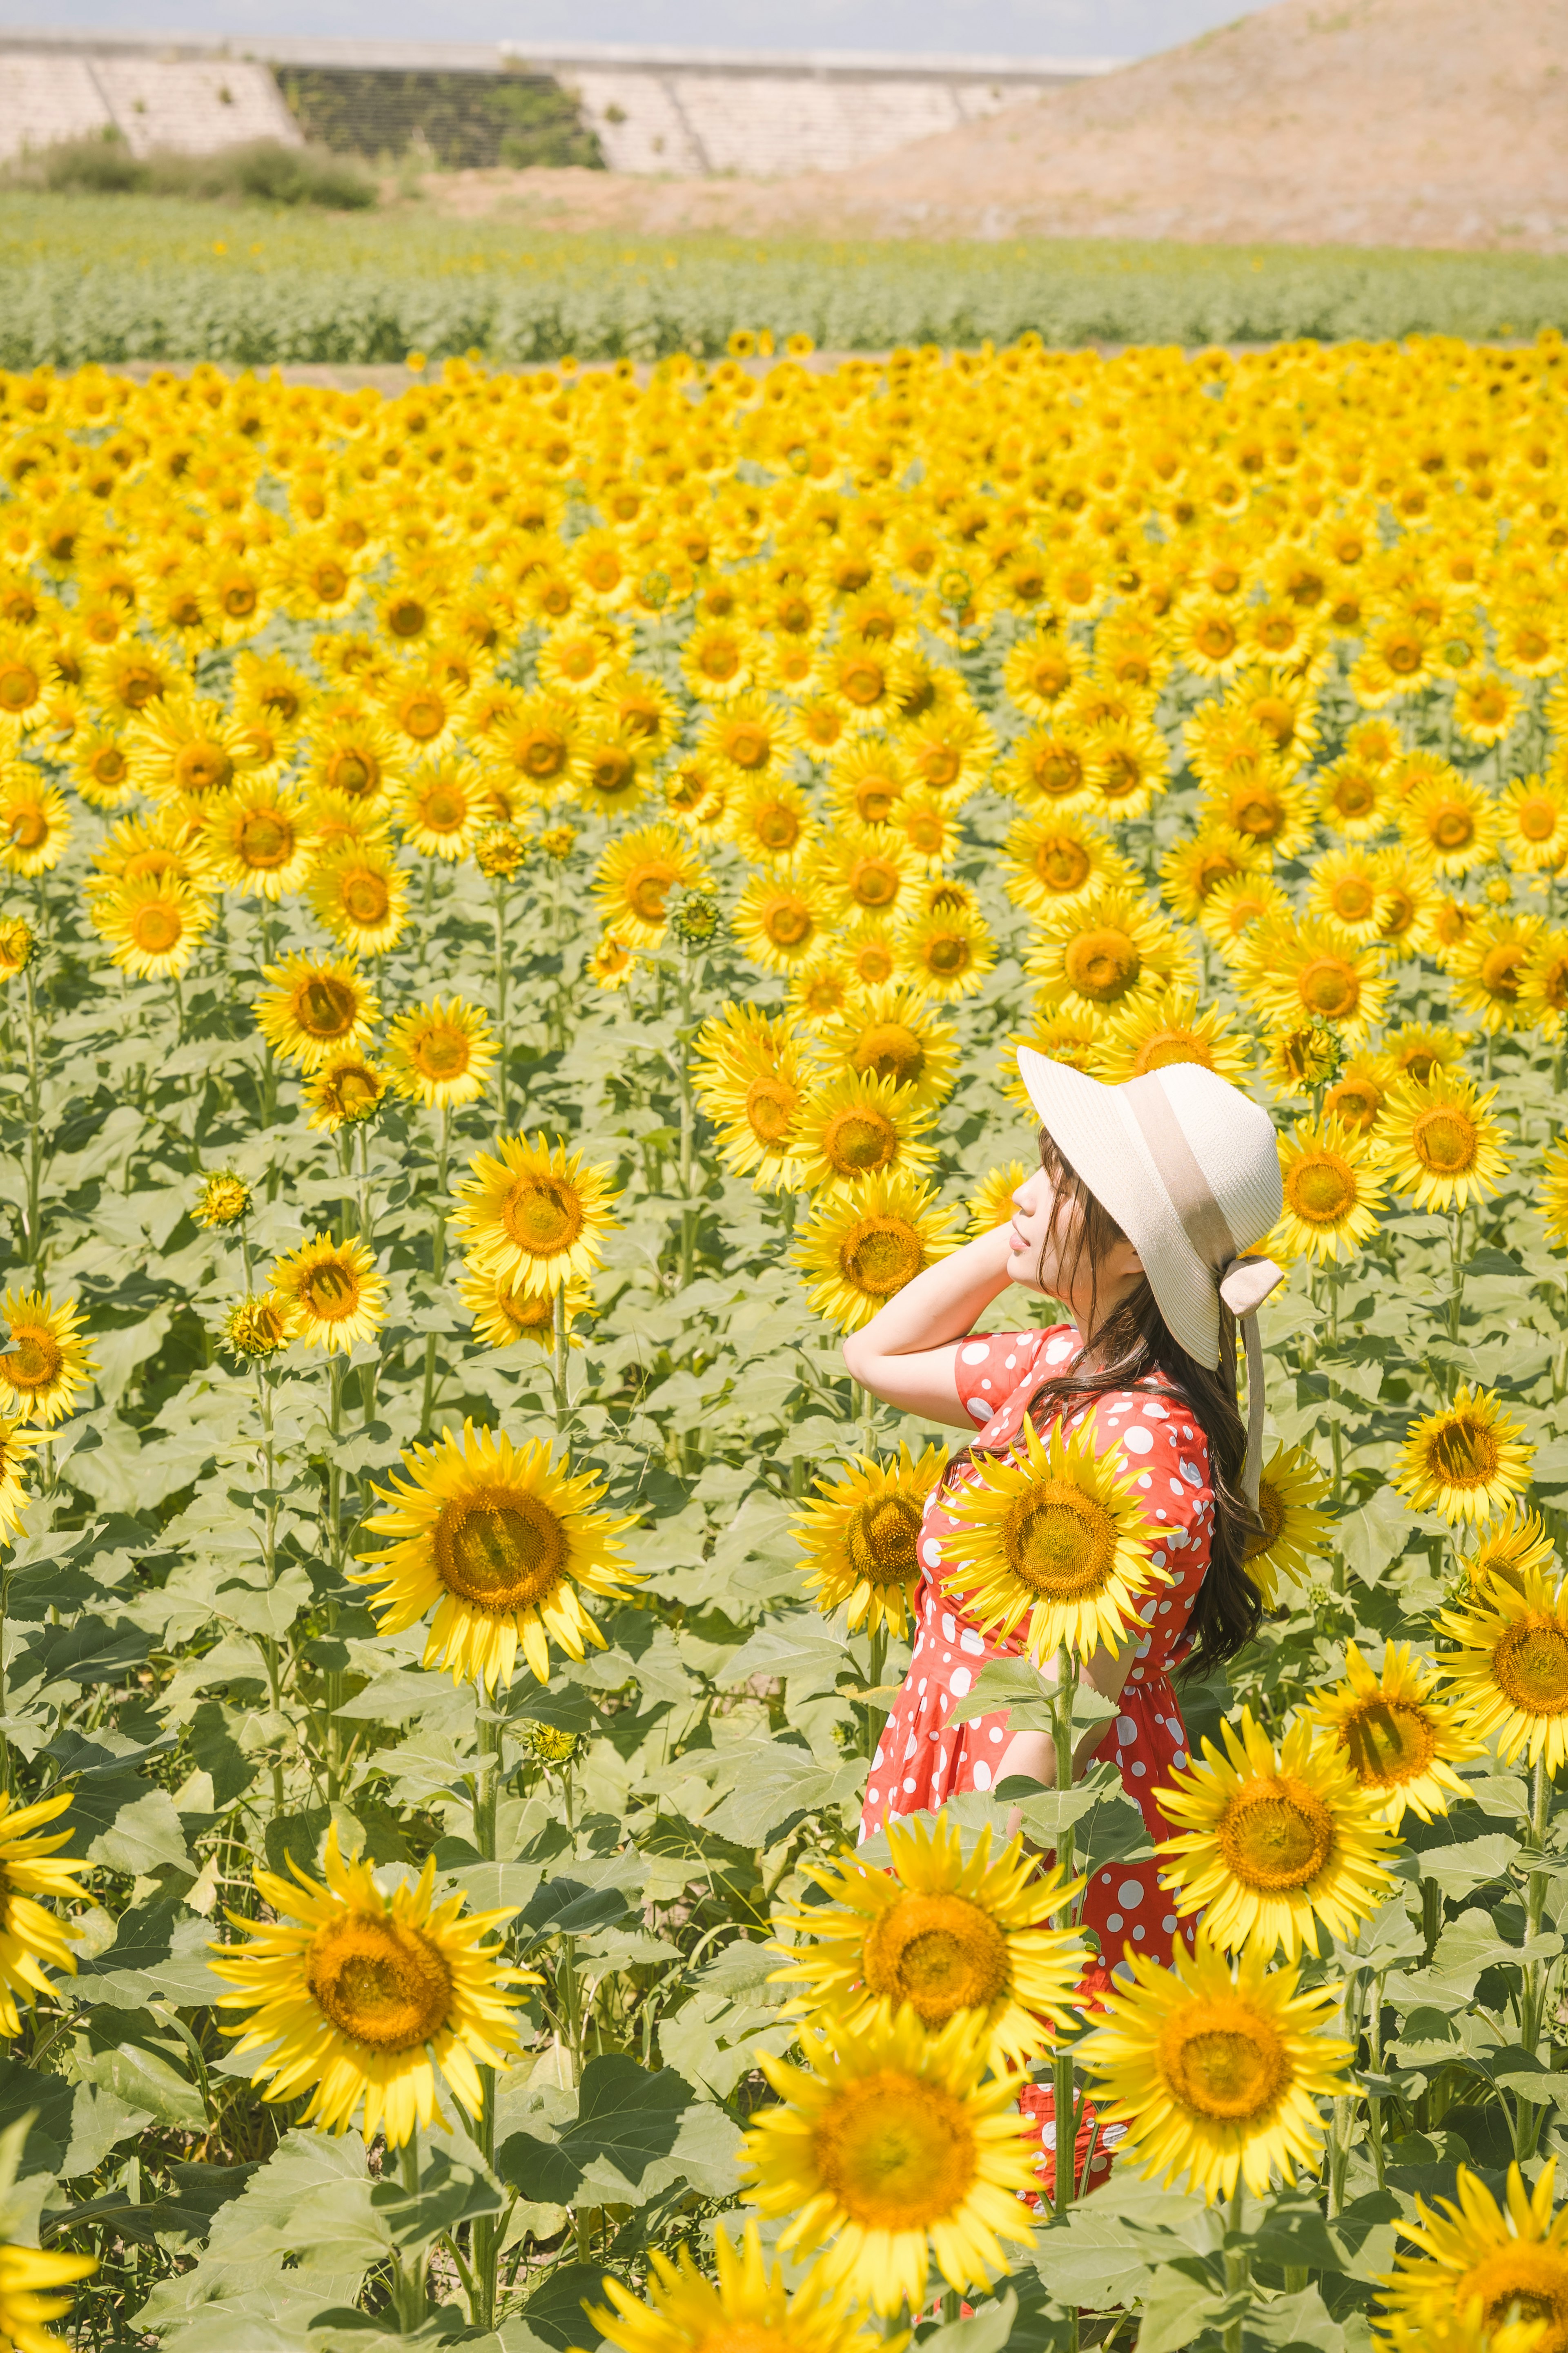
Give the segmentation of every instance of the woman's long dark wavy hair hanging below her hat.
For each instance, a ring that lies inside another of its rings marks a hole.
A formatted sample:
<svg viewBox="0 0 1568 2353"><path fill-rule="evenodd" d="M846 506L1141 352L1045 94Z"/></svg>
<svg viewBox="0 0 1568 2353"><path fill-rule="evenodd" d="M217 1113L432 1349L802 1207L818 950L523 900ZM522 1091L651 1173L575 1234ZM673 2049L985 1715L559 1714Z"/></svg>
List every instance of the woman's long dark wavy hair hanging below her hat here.
<svg viewBox="0 0 1568 2353"><path fill-rule="evenodd" d="M1100 1398L1117 1388L1150 1388L1150 1374L1166 1377L1173 1391L1185 1398L1192 1419L1208 1440L1208 1482L1213 1487L1213 1537L1208 1546L1208 1574L1199 1584L1192 1605L1190 1649L1180 1673L1208 1675L1215 1666L1251 1642L1262 1617L1262 1595L1246 1572L1248 1541L1260 1522L1241 1492L1246 1464L1246 1426L1237 1405L1237 1318L1220 1301L1220 1362L1199 1365L1173 1339L1166 1318L1159 1313L1150 1278L1143 1275L1121 1306L1100 1322L1098 1273L1117 1242L1126 1235L1103 1200L1088 1191L1079 1172L1070 1165L1056 1136L1041 1127L1039 1165L1056 1188L1051 1226L1041 1245L1039 1264L1044 1273L1046 1249L1058 1228L1072 1217L1077 1240L1070 1242L1072 1259L1063 1268L1067 1285L1079 1266L1088 1261L1088 1315L1084 1318L1084 1353L1077 1362L1037 1391L1030 1412L1044 1428L1070 1405L1084 1398ZM1011 1445L1011 1440L1004 1440Z"/></svg>

